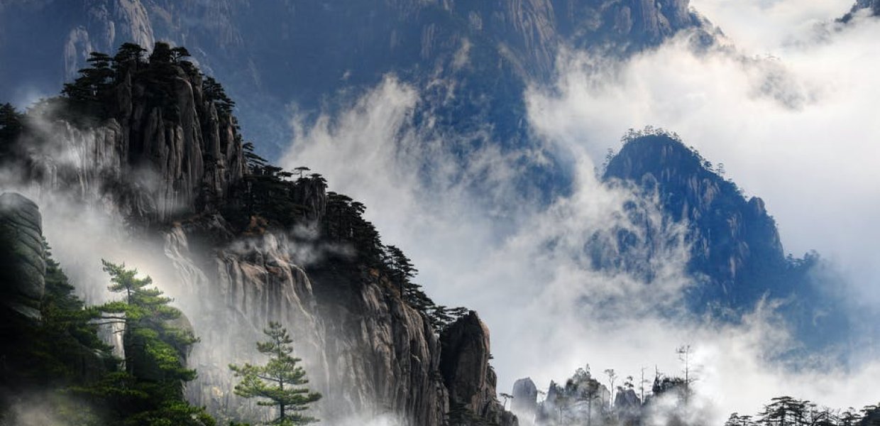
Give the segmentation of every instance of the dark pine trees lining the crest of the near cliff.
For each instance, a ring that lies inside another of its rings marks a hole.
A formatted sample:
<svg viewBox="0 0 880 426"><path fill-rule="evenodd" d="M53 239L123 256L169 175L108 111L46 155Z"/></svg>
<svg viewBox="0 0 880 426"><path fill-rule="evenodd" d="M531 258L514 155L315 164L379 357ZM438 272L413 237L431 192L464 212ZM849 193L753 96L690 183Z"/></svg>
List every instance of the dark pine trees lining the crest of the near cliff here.
<svg viewBox="0 0 880 426"><path fill-rule="evenodd" d="M235 103L223 85L198 70L187 60L189 56L187 48L172 48L164 42L157 42L149 55L134 43L122 44L115 55L93 52L87 60L89 66L79 70L72 83L64 84L62 96L40 100L31 110L51 111L56 117L83 125L103 121L118 110L119 84L130 79L146 88L143 100L148 106L159 106L163 119L175 121L180 111L173 98L174 80L183 77L183 72L202 82L202 97L216 107L221 120L235 123ZM15 140L26 126L26 115L8 104L0 106L0 161L15 156ZM318 224L324 242L350 247L348 252L355 253L358 264L378 270L401 299L422 312L437 331L467 312L466 308L449 308L431 300L413 281L417 270L412 261L400 248L385 246L375 226L364 219L363 203L327 192L325 178L308 173L308 167L285 171L260 157L253 143L242 143L242 149L246 175L228 199L216 200L209 188L202 188L205 204L218 206L231 224L246 232Z"/></svg>

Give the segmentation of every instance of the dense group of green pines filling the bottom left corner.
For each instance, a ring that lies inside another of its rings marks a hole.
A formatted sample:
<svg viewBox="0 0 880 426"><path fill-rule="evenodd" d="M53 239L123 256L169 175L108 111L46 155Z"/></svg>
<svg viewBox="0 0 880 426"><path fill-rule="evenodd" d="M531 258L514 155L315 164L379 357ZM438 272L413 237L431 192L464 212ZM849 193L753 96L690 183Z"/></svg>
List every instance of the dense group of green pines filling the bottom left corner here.
<svg viewBox="0 0 880 426"><path fill-rule="evenodd" d="M149 277L105 262L113 282L109 290L121 298L86 306L58 263L47 258L41 319L20 330L25 344L7 360L26 368L7 383L20 386L22 394L45 393L52 411L45 415L67 424L216 424L183 397L184 384L195 378L186 368L186 354L197 340ZM102 327L121 334L124 359L101 339ZM18 424L15 416L11 410L4 421Z"/></svg>

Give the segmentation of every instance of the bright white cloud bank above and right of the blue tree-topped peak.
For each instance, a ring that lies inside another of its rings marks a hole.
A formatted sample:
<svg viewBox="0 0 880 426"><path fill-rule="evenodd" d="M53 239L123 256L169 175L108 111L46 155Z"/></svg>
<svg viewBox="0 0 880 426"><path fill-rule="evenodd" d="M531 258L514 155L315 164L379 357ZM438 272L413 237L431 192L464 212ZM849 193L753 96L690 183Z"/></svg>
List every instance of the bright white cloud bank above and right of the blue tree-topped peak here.
<svg viewBox="0 0 880 426"><path fill-rule="evenodd" d="M880 173L872 159L880 128L871 106L880 94L873 77L880 23L825 30L810 43L771 46L777 56L769 58L729 49L696 54L684 38L626 63L569 51L554 92L527 95L532 122L592 158L617 148L610 141L627 128L676 131L764 198L788 251L818 250L873 303L880 258L869 247L880 237L872 219L880 213Z"/></svg>

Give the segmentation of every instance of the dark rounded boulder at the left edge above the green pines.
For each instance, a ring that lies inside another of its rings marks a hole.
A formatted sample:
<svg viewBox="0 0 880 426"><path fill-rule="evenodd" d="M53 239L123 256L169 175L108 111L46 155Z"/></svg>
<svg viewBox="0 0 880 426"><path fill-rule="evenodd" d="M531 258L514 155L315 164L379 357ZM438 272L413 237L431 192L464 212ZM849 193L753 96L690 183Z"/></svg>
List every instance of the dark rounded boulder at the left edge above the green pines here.
<svg viewBox="0 0 880 426"><path fill-rule="evenodd" d="M17 193L0 195L0 327L40 320L46 257L37 205Z"/></svg>

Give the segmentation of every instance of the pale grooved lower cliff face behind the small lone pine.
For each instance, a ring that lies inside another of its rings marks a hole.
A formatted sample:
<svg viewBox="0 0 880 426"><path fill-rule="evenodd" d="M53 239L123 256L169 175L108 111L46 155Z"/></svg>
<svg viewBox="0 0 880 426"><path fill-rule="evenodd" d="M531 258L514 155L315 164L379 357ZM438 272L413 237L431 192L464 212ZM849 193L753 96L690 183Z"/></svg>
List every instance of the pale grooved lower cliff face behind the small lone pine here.
<svg viewBox="0 0 880 426"><path fill-rule="evenodd" d="M195 404L220 418L265 415L230 392L226 365L253 362L252 347L242 342L276 320L290 329L310 387L324 395L312 412L322 422L392 415L407 425L440 426L466 406L474 418L517 424L495 397L488 330L475 313L439 337L376 269L344 257L300 268L296 243L283 233L200 254L194 241L218 226L228 224L204 217L165 234L165 256L186 286L171 294L201 338L189 358L199 371L187 387Z"/></svg>

